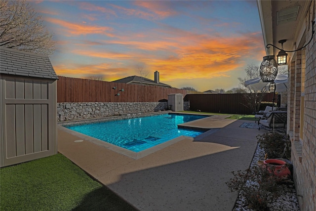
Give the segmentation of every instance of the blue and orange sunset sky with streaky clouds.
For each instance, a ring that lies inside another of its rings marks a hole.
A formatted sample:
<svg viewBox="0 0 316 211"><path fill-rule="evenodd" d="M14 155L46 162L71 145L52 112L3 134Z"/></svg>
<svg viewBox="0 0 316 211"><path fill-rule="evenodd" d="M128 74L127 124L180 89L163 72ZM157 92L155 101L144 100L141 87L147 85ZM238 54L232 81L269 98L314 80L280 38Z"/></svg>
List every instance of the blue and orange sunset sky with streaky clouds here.
<svg viewBox="0 0 316 211"><path fill-rule="evenodd" d="M198 91L238 87L265 48L256 1L33 1L59 76L144 76Z"/></svg>

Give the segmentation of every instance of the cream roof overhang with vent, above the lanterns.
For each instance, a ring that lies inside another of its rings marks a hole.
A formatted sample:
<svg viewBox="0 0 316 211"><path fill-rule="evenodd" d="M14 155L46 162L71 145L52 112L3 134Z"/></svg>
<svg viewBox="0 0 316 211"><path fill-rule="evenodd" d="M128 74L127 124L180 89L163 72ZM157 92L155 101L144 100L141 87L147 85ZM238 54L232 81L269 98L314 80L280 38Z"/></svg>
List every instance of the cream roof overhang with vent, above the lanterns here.
<svg viewBox="0 0 316 211"><path fill-rule="evenodd" d="M304 21L308 8L312 0L257 0L261 28L265 47L267 44L273 44L281 48L280 40L286 40L283 44L285 50L295 50L301 47L305 42L304 32L306 23ZM295 9L298 11L295 14ZM283 22L280 20L280 14L288 13L291 18ZM295 18L296 17L296 18ZM277 55L279 50L266 48L267 55ZM269 52L270 51L270 52ZM289 53L292 57L293 53Z"/></svg>

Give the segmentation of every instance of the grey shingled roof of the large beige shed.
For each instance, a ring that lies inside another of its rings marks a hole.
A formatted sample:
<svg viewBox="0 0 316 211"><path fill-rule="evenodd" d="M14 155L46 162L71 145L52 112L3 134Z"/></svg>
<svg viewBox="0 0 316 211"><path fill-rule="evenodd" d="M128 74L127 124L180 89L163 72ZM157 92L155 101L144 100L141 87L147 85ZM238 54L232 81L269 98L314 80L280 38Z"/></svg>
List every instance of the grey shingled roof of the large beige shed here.
<svg viewBox="0 0 316 211"><path fill-rule="evenodd" d="M58 79L47 55L0 48L0 72L6 75Z"/></svg>

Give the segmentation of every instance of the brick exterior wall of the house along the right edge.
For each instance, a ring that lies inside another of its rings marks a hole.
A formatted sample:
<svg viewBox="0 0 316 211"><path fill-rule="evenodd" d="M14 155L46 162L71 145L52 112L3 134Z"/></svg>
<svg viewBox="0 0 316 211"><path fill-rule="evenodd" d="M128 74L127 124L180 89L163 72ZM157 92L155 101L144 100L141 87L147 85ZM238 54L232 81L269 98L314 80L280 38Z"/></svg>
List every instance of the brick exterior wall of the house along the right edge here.
<svg viewBox="0 0 316 211"><path fill-rule="evenodd" d="M316 7L312 3L310 10L306 16L306 41L308 42L312 37L312 24L311 17ZM314 20L315 17L314 17ZM315 26L316 27L316 26ZM296 185L296 191L300 204L301 211L316 211L316 36L311 43L303 49L302 54L297 54L293 57L291 62L291 88L289 94L291 97L288 102L293 102L291 106L291 112L293 109L293 125L289 125L288 129L293 129L292 136L292 163L294 166L294 180ZM305 55L306 53L306 55ZM301 57L301 58L300 58ZM301 62L303 65L302 75L299 74L301 69L300 64L295 62ZM295 68L292 66L296 65ZM305 73L304 73L305 67ZM297 72L293 74L293 69ZM293 83L293 78L296 78ZM300 82L302 78L302 82ZM299 87L299 83L301 87ZM294 85L294 87L292 87ZM305 87L304 87L305 86ZM293 92L294 91L294 92ZM300 122L297 122L297 113L300 110L295 108L299 105L297 102L301 95L295 92L304 91L304 121L303 126ZM291 120L291 113L289 114L289 120ZM291 122L289 122L291 123ZM303 127L303 135L300 138L299 130L297 127ZM290 132L290 131L289 131Z"/></svg>

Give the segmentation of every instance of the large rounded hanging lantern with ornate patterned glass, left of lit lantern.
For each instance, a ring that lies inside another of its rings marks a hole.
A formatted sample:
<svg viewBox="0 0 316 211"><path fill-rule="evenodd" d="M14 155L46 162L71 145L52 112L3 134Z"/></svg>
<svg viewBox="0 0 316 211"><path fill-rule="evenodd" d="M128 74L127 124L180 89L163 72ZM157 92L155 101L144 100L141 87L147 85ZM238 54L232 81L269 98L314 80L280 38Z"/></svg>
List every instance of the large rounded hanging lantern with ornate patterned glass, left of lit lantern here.
<svg viewBox="0 0 316 211"><path fill-rule="evenodd" d="M263 82L274 82L277 74L275 56L264 56L260 65L260 77Z"/></svg>

